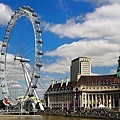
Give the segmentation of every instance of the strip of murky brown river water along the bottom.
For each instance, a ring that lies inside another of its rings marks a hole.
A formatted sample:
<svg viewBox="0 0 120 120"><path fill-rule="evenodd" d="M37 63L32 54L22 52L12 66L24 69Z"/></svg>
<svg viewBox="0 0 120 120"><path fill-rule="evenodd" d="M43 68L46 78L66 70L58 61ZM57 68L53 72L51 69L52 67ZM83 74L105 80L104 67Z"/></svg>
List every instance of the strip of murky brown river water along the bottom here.
<svg viewBox="0 0 120 120"><path fill-rule="evenodd" d="M1 115L0 120L97 120L97 119L63 117L63 116L2 116Z"/></svg>

